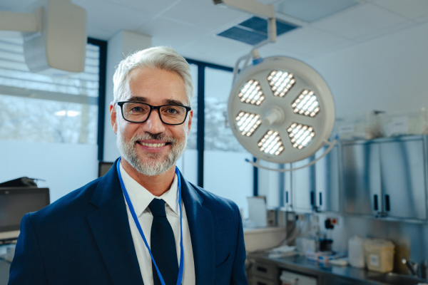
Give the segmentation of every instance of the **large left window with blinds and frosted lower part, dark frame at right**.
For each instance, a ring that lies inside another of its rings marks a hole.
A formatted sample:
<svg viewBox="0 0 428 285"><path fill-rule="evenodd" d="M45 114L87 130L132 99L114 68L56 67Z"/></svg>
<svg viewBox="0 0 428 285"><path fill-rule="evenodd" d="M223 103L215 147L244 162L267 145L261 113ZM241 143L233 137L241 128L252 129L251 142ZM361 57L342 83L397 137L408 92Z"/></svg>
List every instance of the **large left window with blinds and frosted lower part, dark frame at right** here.
<svg viewBox="0 0 428 285"><path fill-rule="evenodd" d="M54 78L29 72L21 38L0 38L0 182L44 180L54 202L98 176L105 47L88 39L85 71Z"/></svg>

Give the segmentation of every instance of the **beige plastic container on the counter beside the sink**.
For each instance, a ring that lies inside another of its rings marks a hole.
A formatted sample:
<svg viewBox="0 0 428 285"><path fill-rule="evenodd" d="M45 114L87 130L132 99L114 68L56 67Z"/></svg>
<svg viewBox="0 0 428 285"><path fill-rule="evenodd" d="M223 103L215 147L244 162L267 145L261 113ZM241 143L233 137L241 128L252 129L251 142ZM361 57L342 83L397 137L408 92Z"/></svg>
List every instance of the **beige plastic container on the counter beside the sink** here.
<svg viewBox="0 0 428 285"><path fill-rule="evenodd" d="M384 239L367 239L364 243L367 268L381 273L394 269L394 244Z"/></svg>

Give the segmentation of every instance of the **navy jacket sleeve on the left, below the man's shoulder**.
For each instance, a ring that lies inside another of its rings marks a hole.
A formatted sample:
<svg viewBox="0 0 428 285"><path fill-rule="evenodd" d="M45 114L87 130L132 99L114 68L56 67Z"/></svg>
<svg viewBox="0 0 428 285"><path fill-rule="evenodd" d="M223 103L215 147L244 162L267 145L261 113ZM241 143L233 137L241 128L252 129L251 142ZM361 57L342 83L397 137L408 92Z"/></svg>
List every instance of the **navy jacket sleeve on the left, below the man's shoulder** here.
<svg viewBox="0 0 428 285"><path fill-rule="evenodd" d="M11 263L8 283L8 285L26 284L47 284L39 241L30 214L26 214L21 220L21 232Z"/></svg>

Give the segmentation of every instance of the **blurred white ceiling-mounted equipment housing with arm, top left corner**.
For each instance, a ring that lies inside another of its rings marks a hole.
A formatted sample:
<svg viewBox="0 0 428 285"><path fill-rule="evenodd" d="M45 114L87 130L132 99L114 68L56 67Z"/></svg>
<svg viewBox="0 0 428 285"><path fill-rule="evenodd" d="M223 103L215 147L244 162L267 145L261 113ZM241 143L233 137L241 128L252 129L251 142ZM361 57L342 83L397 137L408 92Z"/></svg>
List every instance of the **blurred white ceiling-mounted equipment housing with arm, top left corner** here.
<svg viewBox="0 0 428 285"><path fill-rule="evenodd" d="M71 0L39 0L29 13L0 11L0 31L24 38L29 70L49 76L83 72L86 11Z"/></svg>

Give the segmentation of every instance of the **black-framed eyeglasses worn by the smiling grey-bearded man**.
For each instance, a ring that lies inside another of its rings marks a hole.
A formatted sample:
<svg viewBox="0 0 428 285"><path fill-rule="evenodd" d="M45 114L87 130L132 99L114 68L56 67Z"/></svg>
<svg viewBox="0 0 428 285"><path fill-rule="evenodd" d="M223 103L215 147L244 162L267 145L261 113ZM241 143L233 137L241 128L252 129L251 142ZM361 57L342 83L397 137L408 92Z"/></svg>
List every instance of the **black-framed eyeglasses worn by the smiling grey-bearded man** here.
<svg viewBox="0 0 428 285"><path fill-rule="evenodd" d="M122 117L131 123L144 123L150 117L152 110L158 110L159 118L166 125L181 125L192 108L183 105L153 106L141 102L116 102L121 106Z"/></svg>

